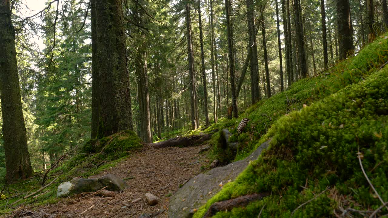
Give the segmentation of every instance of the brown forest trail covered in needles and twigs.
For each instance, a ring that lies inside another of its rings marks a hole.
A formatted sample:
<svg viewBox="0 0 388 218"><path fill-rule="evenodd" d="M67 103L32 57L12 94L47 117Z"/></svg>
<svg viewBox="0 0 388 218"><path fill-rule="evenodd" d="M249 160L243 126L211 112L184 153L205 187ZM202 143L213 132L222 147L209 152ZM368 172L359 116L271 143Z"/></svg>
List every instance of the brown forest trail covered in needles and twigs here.
<svg viewBox="0 0 388 218"><path fill-rule="evenodd" d="M23 211L40 211L41 213L50 214L49 217L166 218L170 196L179 189L180 184L184 184L190 178L199 174L203 163L208 161L206 155L199 154L201 149L206 146L160 149L144 147L141 151L131 154L115 167L92 176L93 178L105 174L114 174L126 180L129 188L121 193L116 193L114 197L98 195L85 197L91 193L78 194L61 199L52 205L44 205L34 209L24 208ZM158 204L149 206L145 200L145 193L151 193L158 197ZM82 197L84 198L80 199ZM141 200L132 203L133 200L138 198L141 198ZM80 200L77 201L77 199ZM156 215L162 210L162 213ZM19 210L16 210L13 215L16 215L17 211ZM142 214L149 214L150 216L141 216Z"/></svg>

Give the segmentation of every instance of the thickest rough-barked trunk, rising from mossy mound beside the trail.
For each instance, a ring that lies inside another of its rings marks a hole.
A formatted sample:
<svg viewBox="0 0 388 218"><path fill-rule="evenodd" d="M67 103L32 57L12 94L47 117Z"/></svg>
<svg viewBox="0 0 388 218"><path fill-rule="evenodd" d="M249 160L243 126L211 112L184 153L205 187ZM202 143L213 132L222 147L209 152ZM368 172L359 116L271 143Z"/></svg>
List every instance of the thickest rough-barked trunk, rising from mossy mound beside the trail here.
<svg viewBox="0 0 388 218"><path fill-rule="evenodd" d="M121 0L90 0L92 138L133 130Z"/></svg>

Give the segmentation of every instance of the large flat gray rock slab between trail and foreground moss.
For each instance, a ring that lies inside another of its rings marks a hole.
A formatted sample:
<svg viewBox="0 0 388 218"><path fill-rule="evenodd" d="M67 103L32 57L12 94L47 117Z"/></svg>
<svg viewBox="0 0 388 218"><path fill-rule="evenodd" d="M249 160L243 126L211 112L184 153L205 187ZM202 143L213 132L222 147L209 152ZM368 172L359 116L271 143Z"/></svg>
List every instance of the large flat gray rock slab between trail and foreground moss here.
<svg viewBox="0 0 388 218"><path fill-rule="evenodd" d="M249 161L256 160L263 149L266 149L270 140L260 145L256 151L243 160L217 167L204 174L199 174L189 180L177 193L170 198L168 217L189 218L190 211L203 206L208 199L221 190L221 183L233 181L248 166Z"/></svg>

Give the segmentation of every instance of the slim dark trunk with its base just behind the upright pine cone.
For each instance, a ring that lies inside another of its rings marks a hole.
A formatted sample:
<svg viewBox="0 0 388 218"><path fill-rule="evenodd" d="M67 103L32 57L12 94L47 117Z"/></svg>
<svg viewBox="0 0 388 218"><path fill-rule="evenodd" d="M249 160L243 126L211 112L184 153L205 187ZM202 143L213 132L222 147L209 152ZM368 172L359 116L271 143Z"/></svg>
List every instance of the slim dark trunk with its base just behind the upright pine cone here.
<svg viewBox="0 0 388 218"><path fill-rule="evenodd" d="M226 10L226 26L228 33L228 51L229 51L229 71L230 71L230 87L232 92L232 109L234 118L238 117L237 111L237 97L236 97L236 76L234 69L234 44L233 44L233 26L230 22L230 13L232 12L231 0L225 0L225 10Z"/></svg>

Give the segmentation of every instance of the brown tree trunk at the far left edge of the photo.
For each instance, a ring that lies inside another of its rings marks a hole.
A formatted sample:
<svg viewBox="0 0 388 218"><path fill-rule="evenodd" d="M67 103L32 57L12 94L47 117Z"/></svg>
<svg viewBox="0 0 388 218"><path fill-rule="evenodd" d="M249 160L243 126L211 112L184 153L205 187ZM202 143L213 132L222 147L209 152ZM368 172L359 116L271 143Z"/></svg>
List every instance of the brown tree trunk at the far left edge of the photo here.
<svg viewBox="0 0 388 218"><path fill-rule="evenodd" d="M0 0L0 98L6 183L33 175L17 73L15 31L9 0Z"/></svg>

